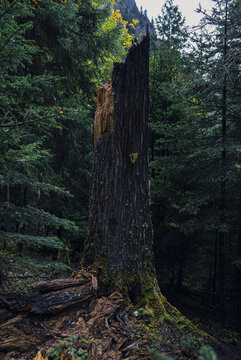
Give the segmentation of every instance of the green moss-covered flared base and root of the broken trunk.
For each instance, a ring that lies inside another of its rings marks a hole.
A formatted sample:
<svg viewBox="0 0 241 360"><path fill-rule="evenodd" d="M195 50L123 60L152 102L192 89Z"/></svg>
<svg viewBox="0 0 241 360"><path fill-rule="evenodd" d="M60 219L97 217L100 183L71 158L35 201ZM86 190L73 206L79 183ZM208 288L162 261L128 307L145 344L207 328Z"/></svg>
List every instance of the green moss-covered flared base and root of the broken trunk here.
<svg viewBox="0 0 241 360"><path fill-rule="evenodd" d="M98 266L101 269L99 287L103 291L113 289L120 291L130 306L132 314L147 321L154 334L160 333L160 329L169 328L173 341L176 342L178 339L187 347L196 348L196 351L203 344L216 343L211 335L198 329L162 295L153 269L144 271L136 269L110 274L106 260L102 259Z"/></svg>

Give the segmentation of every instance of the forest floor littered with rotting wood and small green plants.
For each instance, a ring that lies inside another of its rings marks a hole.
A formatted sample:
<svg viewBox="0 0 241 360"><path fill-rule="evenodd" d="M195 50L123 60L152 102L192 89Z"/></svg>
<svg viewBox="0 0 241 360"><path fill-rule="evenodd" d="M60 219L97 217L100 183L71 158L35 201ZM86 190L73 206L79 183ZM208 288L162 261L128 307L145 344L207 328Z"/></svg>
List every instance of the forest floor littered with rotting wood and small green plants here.
<svg viewBox="0 0 241 360"><path fill-rule="evenodd" d="M97 273L92 267L33 283L25 295L2 292L0 359L198 359L198 335L168 314L157 319L148 308L134 309L115 289L101 293ZM237 339L214 347L219 360L241 359Z"/></svg>

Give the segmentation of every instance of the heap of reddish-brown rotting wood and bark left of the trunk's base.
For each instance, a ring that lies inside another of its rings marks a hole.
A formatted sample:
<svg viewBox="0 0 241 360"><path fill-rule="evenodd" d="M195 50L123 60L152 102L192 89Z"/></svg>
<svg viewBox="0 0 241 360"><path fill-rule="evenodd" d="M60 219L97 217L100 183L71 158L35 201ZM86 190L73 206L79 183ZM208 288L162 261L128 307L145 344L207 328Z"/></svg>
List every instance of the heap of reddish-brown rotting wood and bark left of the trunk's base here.
<svg viewBox="0 0 241 360"><path fill-rule="evenodd" d="M96 272L31 285L40 294L2 294L8 305L0 300L0 359L51 359L51 348L69 336L72 349L88 351L88 360L142 359L128 306L118 291L98 295ZM61 360L77 358L67 346L61 351Z"/></svg>

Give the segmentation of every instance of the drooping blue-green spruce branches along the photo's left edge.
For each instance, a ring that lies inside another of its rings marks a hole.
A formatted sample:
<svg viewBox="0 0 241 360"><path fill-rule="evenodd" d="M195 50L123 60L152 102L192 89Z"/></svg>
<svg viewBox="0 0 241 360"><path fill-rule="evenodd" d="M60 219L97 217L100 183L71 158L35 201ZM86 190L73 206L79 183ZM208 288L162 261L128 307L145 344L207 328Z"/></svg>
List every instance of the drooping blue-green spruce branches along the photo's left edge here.
<svg viewBox="0 0 241 360"><path fill-rule="evenodd" d="M33 25L32 11L30 3L16 2L1 13L0 209L1 228L11 232L4 238L3 248L9 245L8 239L15 239L22 249L26 232L38 235L36 240L28 235L27 241L38 248L43 234L40 226L77 230L69 220L46 212L46 205L40 203L41 194L69 197L70 193L51 184L56 183L56 174L50 167L53 156L46 147L49 134L56 128L58 109L44 104L43 93L54 88L58 77L26 71L39 53L34 41L26 39ZM14 236L12 232L16 231L19 234ZM50 240L45 247L56 247Z"/></svg>

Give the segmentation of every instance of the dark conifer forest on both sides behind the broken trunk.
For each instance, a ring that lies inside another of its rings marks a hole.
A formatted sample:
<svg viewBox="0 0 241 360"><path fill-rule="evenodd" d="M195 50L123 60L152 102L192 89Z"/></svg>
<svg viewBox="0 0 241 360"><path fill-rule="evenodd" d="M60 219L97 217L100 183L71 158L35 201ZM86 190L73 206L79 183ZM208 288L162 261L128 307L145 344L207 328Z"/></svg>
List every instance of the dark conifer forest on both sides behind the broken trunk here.
<svg viewBox="0 0 241 360"><path fill-rule="evenodd" d="M1 2L0 280L23 291L79 267L96 90L149 23L160 286L206 326L240 331L241 2L213 0L210 14L200 7L195 29L173 0L152 23L135 2L134 13L121 12L122 3Z"/></svg>

